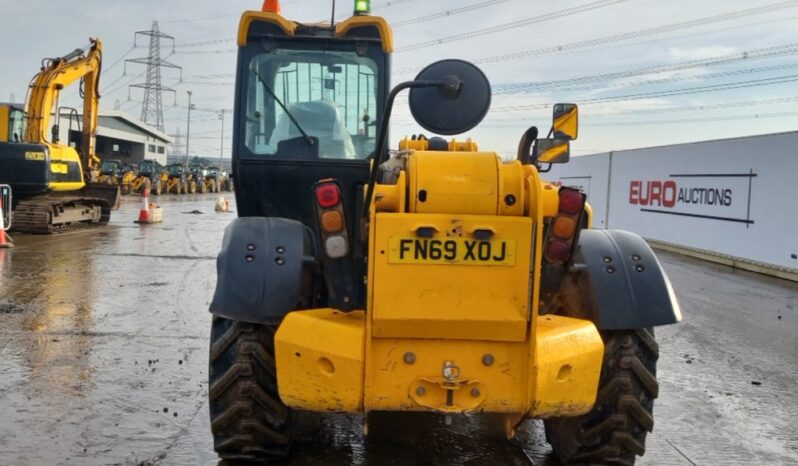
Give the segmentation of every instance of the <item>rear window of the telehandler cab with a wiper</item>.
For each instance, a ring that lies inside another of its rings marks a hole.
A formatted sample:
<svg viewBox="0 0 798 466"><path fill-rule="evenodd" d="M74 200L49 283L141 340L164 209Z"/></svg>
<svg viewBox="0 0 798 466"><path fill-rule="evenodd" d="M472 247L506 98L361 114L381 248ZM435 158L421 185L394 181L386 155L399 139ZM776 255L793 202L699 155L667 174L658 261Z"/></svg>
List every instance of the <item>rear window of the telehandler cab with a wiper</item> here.
<svg viewBox="0 0 798 466"><path fill-rule="evenodd" d="M244 145L255 156L280 143L318 139L319 158L362 160L376 144L378 66L354 51L276 49L251 57ZM304 134L303 134L304 133Z"/></svg>

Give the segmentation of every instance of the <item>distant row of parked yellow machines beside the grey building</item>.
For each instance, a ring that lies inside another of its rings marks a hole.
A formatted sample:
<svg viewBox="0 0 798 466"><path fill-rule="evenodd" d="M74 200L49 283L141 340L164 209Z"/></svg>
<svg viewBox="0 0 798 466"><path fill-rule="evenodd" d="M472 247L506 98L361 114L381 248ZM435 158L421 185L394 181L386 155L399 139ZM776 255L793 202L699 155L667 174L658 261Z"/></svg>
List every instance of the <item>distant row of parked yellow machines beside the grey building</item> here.
<svg viewBox="0 0 798 466"><path fill-rule="evenodd" d="M218 193L233 190L229 173L218 167L173 163L163 166L155 160L144 160L139 166L120 160L105 160L102 163L100 182L118 185L122 194L196 194Z"/></svg>

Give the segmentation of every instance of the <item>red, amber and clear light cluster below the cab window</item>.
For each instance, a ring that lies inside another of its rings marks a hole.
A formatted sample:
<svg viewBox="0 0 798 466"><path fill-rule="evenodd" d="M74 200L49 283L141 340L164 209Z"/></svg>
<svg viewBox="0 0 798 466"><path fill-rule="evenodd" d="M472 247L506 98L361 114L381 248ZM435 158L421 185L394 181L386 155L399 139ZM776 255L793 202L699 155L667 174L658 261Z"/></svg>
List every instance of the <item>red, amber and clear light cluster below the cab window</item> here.
<svg viewBox="0 0 798 466"><path fill-rule="evenodd" d="M344 205L341 202L341 188L334 180L323 180L313 189L316 191L316 212L324 252L331 259L345 257L349 254L349 238Z"/></svg>

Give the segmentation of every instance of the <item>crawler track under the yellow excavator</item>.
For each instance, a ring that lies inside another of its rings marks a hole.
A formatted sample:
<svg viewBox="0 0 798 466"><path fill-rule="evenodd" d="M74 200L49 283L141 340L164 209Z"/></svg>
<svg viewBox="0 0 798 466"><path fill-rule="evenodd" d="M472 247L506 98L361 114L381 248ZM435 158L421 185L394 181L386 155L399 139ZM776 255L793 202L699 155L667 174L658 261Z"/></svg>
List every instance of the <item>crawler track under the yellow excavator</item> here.
<svg viewBox="0 0 798 466"><path fill-rule="evenodd" d="M20 201L12 228L22 233L66 233L107 225L110 218L111 207L104 199L39 196Z"/></svg>

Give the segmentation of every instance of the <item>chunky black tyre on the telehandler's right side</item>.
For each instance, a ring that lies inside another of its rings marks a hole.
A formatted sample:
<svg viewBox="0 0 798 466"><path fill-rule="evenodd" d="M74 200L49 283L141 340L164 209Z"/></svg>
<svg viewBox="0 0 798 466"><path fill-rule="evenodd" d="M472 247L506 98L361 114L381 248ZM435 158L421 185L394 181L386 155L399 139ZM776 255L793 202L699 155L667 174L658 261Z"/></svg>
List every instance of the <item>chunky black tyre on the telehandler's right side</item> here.
<svg viewBox="0 0 798 466"><path fill-rule="evenodd" d="M654 428L659 346L653 330L603 331L604 362L593 410L544 422L564 465L634 465Z"/></svg>

